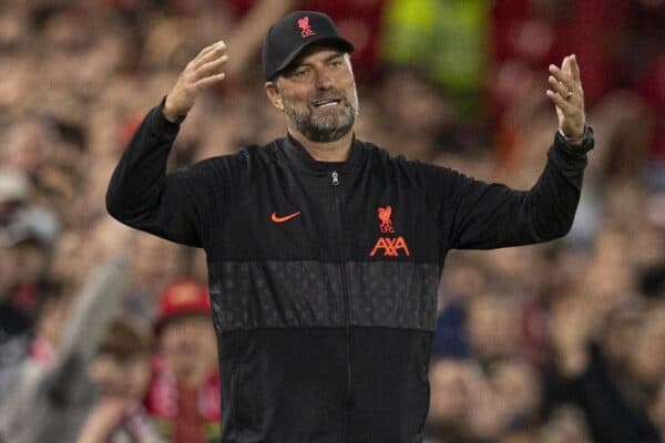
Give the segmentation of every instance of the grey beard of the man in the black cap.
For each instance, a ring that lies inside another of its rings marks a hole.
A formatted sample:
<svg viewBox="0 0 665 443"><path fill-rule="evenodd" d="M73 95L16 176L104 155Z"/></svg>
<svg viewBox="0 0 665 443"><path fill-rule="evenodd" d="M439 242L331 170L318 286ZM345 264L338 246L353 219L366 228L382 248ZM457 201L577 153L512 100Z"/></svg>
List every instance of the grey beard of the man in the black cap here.
<svg viewBox="0 0 665 443"><path fill-rule="evenodd" d="M335 142L349 133L356 115L358 114L357 105L348 103L345 100L345 107L341 115L326 115L315 117L307 109L298 112L291 107L288 102L284 101L284 112L289 122L303 134L307 140L318 143Z"/></svg>

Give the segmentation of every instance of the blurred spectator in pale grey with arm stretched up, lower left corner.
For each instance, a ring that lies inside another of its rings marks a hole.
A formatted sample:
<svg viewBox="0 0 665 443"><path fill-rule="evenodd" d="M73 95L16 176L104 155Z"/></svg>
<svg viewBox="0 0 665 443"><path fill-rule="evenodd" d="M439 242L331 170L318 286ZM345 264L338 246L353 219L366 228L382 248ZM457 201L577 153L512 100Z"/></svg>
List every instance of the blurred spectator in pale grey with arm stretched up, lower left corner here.
<svg viewBox="0 0 665 443"><path fill-rule="evenodd" d="M125 285L122 260L109 259L88 277L66 316L60 302L44 311L41 336L14 364L11 390L0 403L0 441L75 440L93 400L86 369Z"/></svg>

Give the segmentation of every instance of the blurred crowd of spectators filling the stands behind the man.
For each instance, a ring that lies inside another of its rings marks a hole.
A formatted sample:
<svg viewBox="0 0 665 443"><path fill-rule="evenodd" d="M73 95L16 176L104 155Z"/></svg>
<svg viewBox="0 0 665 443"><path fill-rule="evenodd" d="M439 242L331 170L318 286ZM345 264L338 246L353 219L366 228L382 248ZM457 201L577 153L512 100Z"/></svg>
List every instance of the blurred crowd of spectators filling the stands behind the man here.
<svg viewBox="0 0 665 443"><path fill-rule="evenodd" d="M528 188L556 130L546 66L575 53L596 148L572 231L452 251L428 443L665 436L665 1L4 0L0 4L0 442L218 434L205 256L113 222L145 113L202 48L228 78L172 168L284 136L258 50L293 9L354 42L357 134Z"/></svg>

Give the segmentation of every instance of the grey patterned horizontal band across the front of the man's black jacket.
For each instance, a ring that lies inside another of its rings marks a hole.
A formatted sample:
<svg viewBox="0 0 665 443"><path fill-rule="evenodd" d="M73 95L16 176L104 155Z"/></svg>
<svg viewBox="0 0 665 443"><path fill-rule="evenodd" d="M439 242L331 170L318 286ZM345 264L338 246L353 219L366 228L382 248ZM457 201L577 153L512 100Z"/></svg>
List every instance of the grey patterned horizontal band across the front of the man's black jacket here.
<svg viewBox="0 0 665 443"><path fill-rule="evenodd" d="M218 261L208 264L219 331L341 327L346 272L354 326L432 331L439 267L413 262Z"/></svg>

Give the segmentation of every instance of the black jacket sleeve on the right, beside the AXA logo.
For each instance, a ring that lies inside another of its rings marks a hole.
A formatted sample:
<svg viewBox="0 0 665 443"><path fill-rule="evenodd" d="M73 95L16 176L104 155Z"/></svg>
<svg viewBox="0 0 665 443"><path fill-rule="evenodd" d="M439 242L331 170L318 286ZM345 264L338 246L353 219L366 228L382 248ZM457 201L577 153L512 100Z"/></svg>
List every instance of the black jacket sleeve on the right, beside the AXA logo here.
<svg viewBox="0 0 665 443"><path fill-rule="evenodd" d="M545 167L530 190L480 182L444 168L437 187L448 249L529 245L567 234L580 200L586 153L593 144L591 126L579 147L556 133Z"/></svg>

